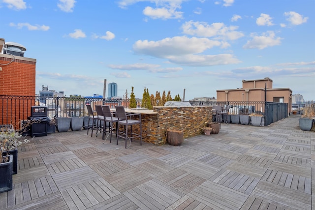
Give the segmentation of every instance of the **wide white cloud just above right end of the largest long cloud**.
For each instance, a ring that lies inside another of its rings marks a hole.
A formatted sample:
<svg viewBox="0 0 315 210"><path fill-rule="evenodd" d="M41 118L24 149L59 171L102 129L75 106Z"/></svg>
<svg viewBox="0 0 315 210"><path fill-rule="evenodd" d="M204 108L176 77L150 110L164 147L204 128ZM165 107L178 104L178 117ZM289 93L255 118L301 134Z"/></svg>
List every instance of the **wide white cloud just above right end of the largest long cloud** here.
<svg viewBox="0 0 315 210"><path fill-rule="evenodd" d="M224 23L213 23L208 25L205 22L189 21L182 25L183 33L205 37L216 37L218 39L235 40L243 37L244 34L236 31L237 26L225 26Z"/></svg>

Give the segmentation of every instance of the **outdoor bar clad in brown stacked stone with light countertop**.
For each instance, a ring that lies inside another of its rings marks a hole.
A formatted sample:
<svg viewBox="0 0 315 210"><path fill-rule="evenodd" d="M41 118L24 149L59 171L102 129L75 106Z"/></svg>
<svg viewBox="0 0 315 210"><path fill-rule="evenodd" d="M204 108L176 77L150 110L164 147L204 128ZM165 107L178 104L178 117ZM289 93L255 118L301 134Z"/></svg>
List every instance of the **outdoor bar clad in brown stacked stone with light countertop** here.
<svg viewBox="0 0 315 210"><path fill-rule="evenodd" d="M141 113L143 141L157 145L166 143L167 129L182 130L188 138L201 134L212 121L212 106L154 106L153 110L126 108L126 112Z"/></svg>

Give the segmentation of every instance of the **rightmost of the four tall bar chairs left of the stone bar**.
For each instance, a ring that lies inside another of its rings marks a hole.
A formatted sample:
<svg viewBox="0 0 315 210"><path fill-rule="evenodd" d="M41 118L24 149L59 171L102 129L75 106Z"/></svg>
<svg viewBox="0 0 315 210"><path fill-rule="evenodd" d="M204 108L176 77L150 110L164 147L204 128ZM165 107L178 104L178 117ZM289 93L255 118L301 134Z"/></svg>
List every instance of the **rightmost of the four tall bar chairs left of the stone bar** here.
<svg viewBox="0 0 315 210"><path fill-rule="evenodd" d="M116 116L120 121L118 121L118 135L117 135L117 145L119 137L125 139L125 148L127 148L127 139L132 141L134 138L140 138L140 145L142 145L142 127L141 127L141 113L131 113L126 114L124 106L115 106ZM132 116L139 116L139 120L132 119ZM128 119L129 117L129 119ZM139 134L132 132L132 126L139 124ZM124 131L119 130L119 126L124 126ZM130 126L130 132L128 133L128 126Z"/></svg>

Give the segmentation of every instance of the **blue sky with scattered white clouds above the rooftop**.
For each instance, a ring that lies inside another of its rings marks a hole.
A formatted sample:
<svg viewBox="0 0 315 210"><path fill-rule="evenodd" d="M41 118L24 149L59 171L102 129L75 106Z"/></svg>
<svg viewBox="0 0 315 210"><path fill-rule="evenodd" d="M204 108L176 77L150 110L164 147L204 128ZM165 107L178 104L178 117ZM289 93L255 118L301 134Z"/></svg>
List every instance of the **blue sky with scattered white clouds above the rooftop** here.
<svg viewBox="0 0 315 210"><path fill-rule="evenodd" d="M65 95L216 97L242 79L315 100L315 0L0 0L0 37ZM107 88L108 89L108 88ZM108 93L106 93L108 95Z"/></svg>

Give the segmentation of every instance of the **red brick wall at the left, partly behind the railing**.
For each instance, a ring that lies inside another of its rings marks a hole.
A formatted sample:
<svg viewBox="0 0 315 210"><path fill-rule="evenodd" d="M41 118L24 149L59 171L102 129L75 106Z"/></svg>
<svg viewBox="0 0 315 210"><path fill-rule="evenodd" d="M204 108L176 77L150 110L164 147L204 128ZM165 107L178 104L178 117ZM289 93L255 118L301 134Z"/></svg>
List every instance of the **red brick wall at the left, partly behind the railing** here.
<svg viewBox="0 0 315 210"><path fill-rule="evenodd" d="M2 68L0 70L0 95L35 96L35 59L20 56L15 56L14 59L12 55L0 54L0 64L8 64L6 66L0 65ZM27 119L30 116L27 110L30 110L33 104L28 103L25 106L16 104L14 101L6 101L6 103L8 104L3 105L3 107L0 104L2 112L0 124L13 124L17 126L20 120ZM6 107L10 107L9 110L6 110ZM15 111L21 110L23 107L25 110L23 110L22 114L20 111Z"/></svg>

